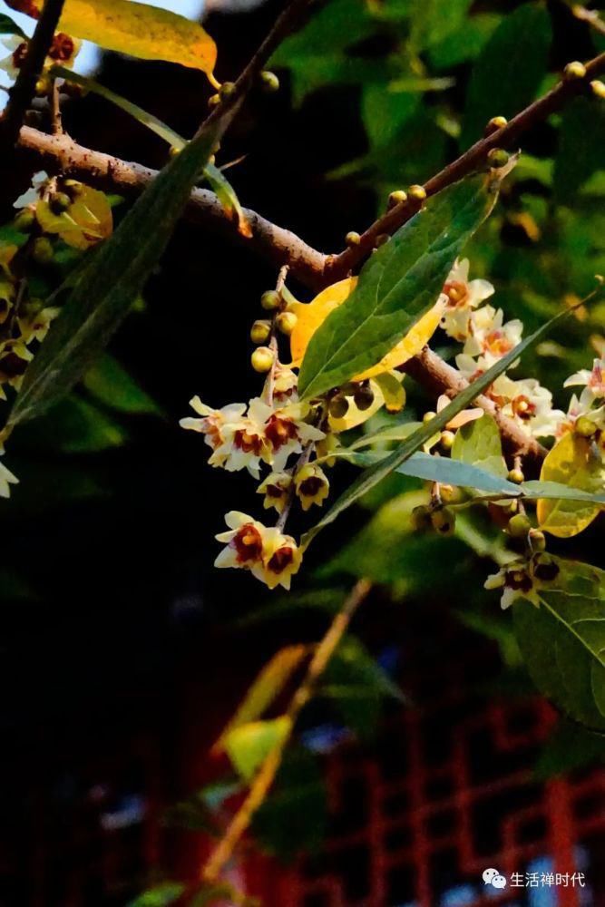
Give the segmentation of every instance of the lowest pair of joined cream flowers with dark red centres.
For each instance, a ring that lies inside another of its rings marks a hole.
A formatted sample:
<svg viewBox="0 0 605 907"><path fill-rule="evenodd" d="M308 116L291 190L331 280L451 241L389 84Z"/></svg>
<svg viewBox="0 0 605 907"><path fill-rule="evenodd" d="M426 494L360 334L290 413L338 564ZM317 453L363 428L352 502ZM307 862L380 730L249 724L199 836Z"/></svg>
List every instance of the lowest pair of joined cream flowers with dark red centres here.
<svg viewBox="0 0 605 907"><path fill-rule="evenodd" d="M227 542L215 567L235 567L249 570L269 589L290 588L292 576L298 572L302 552L296 541L277 526L263 526L247 513L230 511L225 516L229 532L220 532L217 541Z"/></svg>

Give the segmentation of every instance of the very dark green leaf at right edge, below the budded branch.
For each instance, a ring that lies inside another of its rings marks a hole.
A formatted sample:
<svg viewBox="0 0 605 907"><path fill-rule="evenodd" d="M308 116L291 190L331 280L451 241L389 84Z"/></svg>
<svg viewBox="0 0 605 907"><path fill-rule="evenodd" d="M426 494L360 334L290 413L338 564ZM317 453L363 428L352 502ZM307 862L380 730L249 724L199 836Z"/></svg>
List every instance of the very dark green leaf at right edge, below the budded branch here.
<svg viewBox="0 0 605 907"><path fill-rule="evenodd" d="M581 186L605 168L605 111L597 98L576 98L563 112L554 193L562 204L576 200Z"/></svg>

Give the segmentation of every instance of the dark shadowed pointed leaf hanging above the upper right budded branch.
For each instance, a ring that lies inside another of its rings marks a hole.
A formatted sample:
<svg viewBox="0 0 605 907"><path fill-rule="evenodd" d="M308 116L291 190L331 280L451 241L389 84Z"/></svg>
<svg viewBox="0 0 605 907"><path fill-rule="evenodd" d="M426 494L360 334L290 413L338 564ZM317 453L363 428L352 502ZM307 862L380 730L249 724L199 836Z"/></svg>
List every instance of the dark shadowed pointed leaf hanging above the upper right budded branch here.
<svg viewBox="0 0 605 907"><path fill-rule="evenodd" d="M466 94L461 145L481 138L496 115L509 119L532 101L548 63L551 19L538 3L505 15L473 67Z"/></svg>

